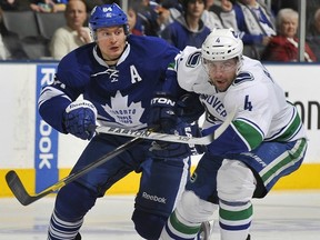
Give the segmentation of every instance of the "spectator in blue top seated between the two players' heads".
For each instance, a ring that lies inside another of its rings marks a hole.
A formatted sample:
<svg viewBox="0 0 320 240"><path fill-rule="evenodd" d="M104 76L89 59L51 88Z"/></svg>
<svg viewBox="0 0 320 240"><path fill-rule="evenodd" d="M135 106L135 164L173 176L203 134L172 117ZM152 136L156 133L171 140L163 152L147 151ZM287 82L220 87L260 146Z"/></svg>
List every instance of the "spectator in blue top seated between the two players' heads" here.
<svg viewBox="0 0 320 240"><path fill-rule="evenodd" d="M186 46L200 48L210 33L210 29L201 20L206 2L203 0L183 0L182 7L183 14L163 29L161 38L180 50Z"/></svg>

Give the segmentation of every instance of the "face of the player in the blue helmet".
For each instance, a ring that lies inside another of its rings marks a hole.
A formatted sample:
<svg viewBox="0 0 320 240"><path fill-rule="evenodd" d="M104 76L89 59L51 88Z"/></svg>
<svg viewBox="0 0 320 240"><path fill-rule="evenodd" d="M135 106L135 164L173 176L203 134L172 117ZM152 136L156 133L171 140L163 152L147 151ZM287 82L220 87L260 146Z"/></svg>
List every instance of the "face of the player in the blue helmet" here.
<svg viewBox="0 0 320 240"><path fill-rule="evenodd" d="M126 38L122 26L97 29L97 44L103 59L118 59L124 50Z"/></svg>

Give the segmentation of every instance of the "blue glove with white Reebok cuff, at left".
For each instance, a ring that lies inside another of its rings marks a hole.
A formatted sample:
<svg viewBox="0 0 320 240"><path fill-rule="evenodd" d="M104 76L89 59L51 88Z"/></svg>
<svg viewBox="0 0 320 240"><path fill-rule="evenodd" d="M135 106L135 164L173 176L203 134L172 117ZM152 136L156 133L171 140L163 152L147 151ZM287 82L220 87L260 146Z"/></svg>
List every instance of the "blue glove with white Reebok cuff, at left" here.
<svg viewBox="0 0 320 240"><path fill-rule="evenodd" d="M63 124L67 132L90 140L94 134L92 126L96 124L97 109L88 100L71 102L63 114Z"/></svg>

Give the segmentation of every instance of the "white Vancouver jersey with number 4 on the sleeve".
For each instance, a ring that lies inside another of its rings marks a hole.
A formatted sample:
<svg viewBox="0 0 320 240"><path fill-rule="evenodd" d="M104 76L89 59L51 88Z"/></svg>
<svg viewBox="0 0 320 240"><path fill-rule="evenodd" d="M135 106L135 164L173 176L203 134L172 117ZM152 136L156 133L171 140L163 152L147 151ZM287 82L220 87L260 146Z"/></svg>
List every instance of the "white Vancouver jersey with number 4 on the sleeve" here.
<svg viewBox="0 0 320 240"><path fill-rule="evenodd" d="M236 131L248 142L252 136L263 141L291 141L306 138L294 106L260 61L243 57L237 78L226 92L218 92L209 82L201 64L200 49L186 48L177 60L179 84L200 94L206 107L203 129L224 120L236 110ZM249 133L248 133L249 132ZM250 134L254 132L254 134ZM257 132L259 132L257 134Z"/></svg>

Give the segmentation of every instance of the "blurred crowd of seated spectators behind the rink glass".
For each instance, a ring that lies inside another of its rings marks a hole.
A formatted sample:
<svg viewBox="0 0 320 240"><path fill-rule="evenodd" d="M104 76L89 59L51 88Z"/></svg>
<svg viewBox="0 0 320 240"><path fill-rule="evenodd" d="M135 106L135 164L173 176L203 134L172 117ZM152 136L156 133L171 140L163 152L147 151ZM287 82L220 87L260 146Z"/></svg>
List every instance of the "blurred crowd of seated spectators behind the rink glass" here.
<svg viewBox="0 0 320 240"><path fill-rule="evenodd" d="M303 61L320 62L320 0L0 0L0 60L60 60L92 42L88 17L94 6L126 9L131 34L163 38L179 49L200 48L213 28L233 28L244 54L262 61L299 61L299 28L306 30ZM301 58L300 58L301 60Z"/></svg>

